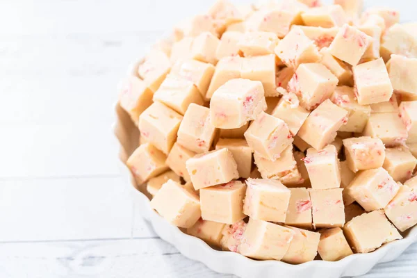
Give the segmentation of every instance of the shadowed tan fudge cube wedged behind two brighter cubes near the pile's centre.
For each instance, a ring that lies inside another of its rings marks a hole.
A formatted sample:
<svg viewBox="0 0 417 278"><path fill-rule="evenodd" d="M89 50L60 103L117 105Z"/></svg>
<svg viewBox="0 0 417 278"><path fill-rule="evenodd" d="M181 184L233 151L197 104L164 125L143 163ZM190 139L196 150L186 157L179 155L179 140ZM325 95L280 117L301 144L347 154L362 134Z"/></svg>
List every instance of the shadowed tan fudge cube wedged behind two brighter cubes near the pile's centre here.
<svg viewBox="0 0 417 278"><path fill-rule="evenodd" d="M245 139L220 138L215 149L227 148L238 165L239 177L247 179L252 167L252 149Z"/></svg>

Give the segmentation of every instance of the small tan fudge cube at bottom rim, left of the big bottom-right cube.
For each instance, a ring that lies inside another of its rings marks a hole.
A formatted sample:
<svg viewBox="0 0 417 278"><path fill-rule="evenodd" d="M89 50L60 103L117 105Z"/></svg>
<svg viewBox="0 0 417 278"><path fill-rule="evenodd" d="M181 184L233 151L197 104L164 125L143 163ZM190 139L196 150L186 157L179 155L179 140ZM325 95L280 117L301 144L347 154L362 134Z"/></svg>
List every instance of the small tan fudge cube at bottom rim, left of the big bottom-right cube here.
<svg viewBox="0 0 417 278"><path fill-rule="evenodd" d="M339 227L325 230L320 235L318 254L323 261L338 261L352 255L349 243Z"/></svg>

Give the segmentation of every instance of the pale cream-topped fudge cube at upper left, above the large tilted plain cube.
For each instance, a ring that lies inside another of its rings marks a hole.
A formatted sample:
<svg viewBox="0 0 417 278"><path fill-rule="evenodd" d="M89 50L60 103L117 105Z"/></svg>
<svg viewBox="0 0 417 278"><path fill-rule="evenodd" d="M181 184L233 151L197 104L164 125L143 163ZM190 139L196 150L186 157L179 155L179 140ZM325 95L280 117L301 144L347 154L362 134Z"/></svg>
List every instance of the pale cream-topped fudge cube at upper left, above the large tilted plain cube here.
<svg viewBox="0 0 417 278"><path fill-rule="evenodd" d="M168 75L154 94L154 101L160 101L177 113L184 115L190 104L204 104L202 95L192 81Z"/></svg>

